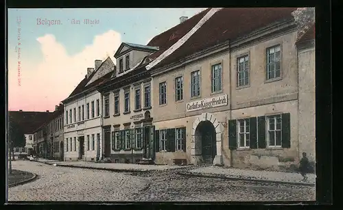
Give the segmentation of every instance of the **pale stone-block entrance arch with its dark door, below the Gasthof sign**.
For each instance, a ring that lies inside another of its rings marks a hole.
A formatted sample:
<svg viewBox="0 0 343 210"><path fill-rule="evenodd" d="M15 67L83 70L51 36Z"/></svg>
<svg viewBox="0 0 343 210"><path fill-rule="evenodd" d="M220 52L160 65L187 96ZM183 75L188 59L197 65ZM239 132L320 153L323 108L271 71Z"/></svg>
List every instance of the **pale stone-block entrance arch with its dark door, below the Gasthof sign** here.
<svg viewBox="0 0 343 210"><path fill-rule="evenodd" d="M222 124L211 113L203 113L194 120L191 133L192 163L223 165L222 131Z"/></svg>

